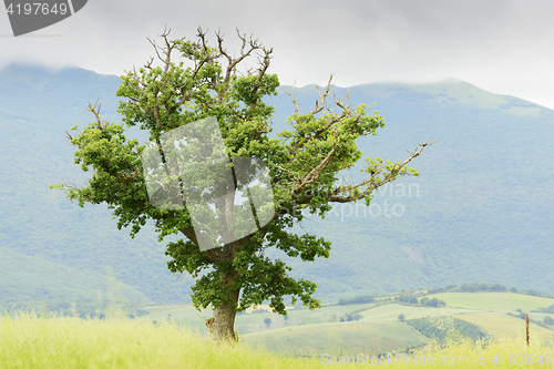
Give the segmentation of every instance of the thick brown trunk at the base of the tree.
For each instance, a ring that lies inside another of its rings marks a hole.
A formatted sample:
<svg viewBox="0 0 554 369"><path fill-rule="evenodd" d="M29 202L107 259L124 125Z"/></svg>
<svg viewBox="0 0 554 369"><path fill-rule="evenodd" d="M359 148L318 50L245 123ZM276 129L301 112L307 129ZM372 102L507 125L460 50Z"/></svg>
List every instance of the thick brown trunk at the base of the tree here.
<svg viewBox="0 0 554 369"><path fill-rule="evenodd" d="M239 289L230 288L233 274L220 275L222 281L227 287L228 300L214 308L214 317L208 319L206 325L209 328L212 338L215 340L236 340L235 317L237 314Z"/></svg>

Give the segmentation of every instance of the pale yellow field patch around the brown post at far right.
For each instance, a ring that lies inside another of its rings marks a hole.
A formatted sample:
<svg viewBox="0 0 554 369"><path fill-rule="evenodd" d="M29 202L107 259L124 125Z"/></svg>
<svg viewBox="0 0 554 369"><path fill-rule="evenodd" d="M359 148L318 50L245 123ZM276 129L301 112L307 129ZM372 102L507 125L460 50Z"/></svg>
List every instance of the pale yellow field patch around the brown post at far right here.
<svg viewBox="0 0 554 369"><path fill-rule="evenodd" d="M458 316L458 318L481 326L496 338L525 337L525 320L503 312L465 314ZM552 340L554 337L554 330L543 328L533 322L530 324L530 332L533 337L540 339L540 341Z"/></svg>

